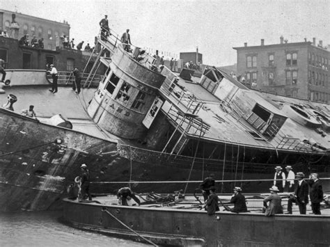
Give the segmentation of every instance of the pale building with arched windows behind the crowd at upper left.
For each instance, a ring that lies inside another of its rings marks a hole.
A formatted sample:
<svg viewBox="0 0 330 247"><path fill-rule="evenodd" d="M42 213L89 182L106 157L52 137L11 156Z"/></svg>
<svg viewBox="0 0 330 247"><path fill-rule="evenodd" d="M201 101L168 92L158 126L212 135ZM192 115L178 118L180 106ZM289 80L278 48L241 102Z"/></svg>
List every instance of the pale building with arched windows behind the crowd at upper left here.
<svg viewBox="0 0 330 247"><path fill-rule="evenodd" d="M56 42L59 42L60 37L70 36L68 22L54 22L49 19L1 9L0 30L7 31L9 37L15 39L22 38L25 34L29 34L29 40L33 38L33 35L37 39L44 38L45 49L56 49L58 46Z"/></svg>

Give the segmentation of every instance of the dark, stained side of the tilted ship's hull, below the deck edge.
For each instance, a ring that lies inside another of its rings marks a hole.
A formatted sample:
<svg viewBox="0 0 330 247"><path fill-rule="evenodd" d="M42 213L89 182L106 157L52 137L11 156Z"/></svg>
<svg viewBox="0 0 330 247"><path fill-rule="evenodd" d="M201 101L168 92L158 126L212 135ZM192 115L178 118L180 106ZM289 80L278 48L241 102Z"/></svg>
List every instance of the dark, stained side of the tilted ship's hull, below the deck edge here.
<svg viewBox="0 0 330 247"><path fill-rule="evenodd" d="M274 166L269 166L260 176L259 168L246 167L248 173L240 174L232 161L205 164L203 159L134 148L4 109L0 109L0 135L0 209L4 212L58 209L81 164L88 164L92 193L113 193L129 181L138 192L185 189L193 193L198 182L184 181L201 181L210 173L215 173L217 180L239 180L242 175L244 180L271 180L274 171ZM143 183L152 181L155 183ZM216 184L221 193L231 193L233 186L242 186L246 193L267 192L271 185L269 181Z"/></svg>

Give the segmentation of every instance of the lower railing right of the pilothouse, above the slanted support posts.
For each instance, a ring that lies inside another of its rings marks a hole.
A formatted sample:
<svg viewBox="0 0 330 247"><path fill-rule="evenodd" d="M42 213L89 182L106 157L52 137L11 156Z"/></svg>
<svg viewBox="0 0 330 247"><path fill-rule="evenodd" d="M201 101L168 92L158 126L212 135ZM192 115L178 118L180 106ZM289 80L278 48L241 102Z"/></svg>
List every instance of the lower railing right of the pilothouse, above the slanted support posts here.
<svg viewBox="0 0 330 247"><path fill-rule="evenodd" d="M210 129L210 125L203 122L201 118L182 113L182 111L176 109L173 104L168 111L162 109L162 112L168 117L168 120L173 122L174 126L180 129L180 132L193 135L201 134L201 136L203 136Z"/></svg>

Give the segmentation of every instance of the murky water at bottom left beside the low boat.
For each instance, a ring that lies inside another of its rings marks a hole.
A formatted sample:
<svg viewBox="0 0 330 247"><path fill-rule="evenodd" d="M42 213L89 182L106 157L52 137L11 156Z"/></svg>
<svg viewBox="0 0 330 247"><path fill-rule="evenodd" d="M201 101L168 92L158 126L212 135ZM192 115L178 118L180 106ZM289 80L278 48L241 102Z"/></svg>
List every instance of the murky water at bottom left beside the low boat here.
<svg viewBox="0 0 330 247"><path fill-rule="evenodd" d="M0 246L147 246L77 230L58 221L61 212L0 214Z"/></svg>

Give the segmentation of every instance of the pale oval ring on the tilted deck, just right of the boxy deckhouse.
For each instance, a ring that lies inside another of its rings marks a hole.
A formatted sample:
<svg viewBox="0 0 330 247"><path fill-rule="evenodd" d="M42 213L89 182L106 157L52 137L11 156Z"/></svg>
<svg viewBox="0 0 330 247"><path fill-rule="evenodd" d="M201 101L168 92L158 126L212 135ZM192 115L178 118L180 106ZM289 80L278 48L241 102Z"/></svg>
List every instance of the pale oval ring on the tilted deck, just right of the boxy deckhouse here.
<svg viewBox="0 0 330 247"><path fill-rule="evenodd" d="M285 104L282 111L284 111L289 118L295 122L298 122L300 125L304 125L312 129L322 127L322 123L316 118L315 115L312 115L310 112L297 106Z"/></svg>

